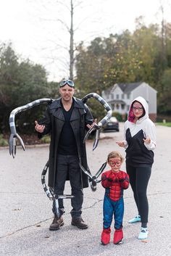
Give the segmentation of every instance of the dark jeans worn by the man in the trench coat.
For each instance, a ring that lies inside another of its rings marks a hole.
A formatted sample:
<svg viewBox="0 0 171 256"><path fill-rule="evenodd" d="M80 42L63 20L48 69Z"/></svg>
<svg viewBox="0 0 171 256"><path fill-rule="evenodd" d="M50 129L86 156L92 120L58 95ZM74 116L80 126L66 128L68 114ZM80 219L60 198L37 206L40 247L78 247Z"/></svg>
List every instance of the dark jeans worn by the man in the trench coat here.
<svg viewBox="0 0 171 256"><path fill-rule="evenodd" d="M73 218L80 217L83 205L83 189L80 176L79 159L77 155L58 154L57 156L57 174L54 186L54 194L64 194L64 183L70 179L71 194L75 196L71 199L71 215ZM63 199L59 199L60 214L64 213ZM52 211L55 213L55 203L53 202Z"/></svg>

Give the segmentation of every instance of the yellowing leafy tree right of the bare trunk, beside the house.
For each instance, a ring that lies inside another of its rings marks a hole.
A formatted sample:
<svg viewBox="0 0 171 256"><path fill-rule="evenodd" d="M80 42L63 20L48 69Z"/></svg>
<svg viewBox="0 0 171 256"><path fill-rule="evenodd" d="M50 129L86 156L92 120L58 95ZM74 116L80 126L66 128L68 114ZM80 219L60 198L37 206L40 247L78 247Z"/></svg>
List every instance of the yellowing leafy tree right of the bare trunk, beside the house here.
<svg viewBox="0 0 171 256"><path fill-rule="evenodd" d="M114 83L133 82L141 57L128 30L109 38L95 38L88 47L80 44L76 57L77 82L81 90L101 94Z"/></svg>

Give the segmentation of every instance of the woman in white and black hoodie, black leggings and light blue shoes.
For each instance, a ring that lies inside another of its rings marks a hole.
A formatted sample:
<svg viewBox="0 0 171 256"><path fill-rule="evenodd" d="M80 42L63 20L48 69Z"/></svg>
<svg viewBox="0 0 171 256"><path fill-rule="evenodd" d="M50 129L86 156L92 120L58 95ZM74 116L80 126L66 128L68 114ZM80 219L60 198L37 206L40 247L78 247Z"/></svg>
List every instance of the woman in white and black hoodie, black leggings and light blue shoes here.
<svg viewBox="0 0 171 256"><path fill-rule="evenodd" d="M126 149L126 170L130 176L130 186L133 189L135 203L138 208L138 215L129 220L129 223L141 221L141 231L138 239L146 239L149 215L146 190L154 162L153 151L156 147L156 129L154 123L149 119L148 104L141 96L135 98L130 104L124 134L125 141L117 141L117 144Z"/></svg>

